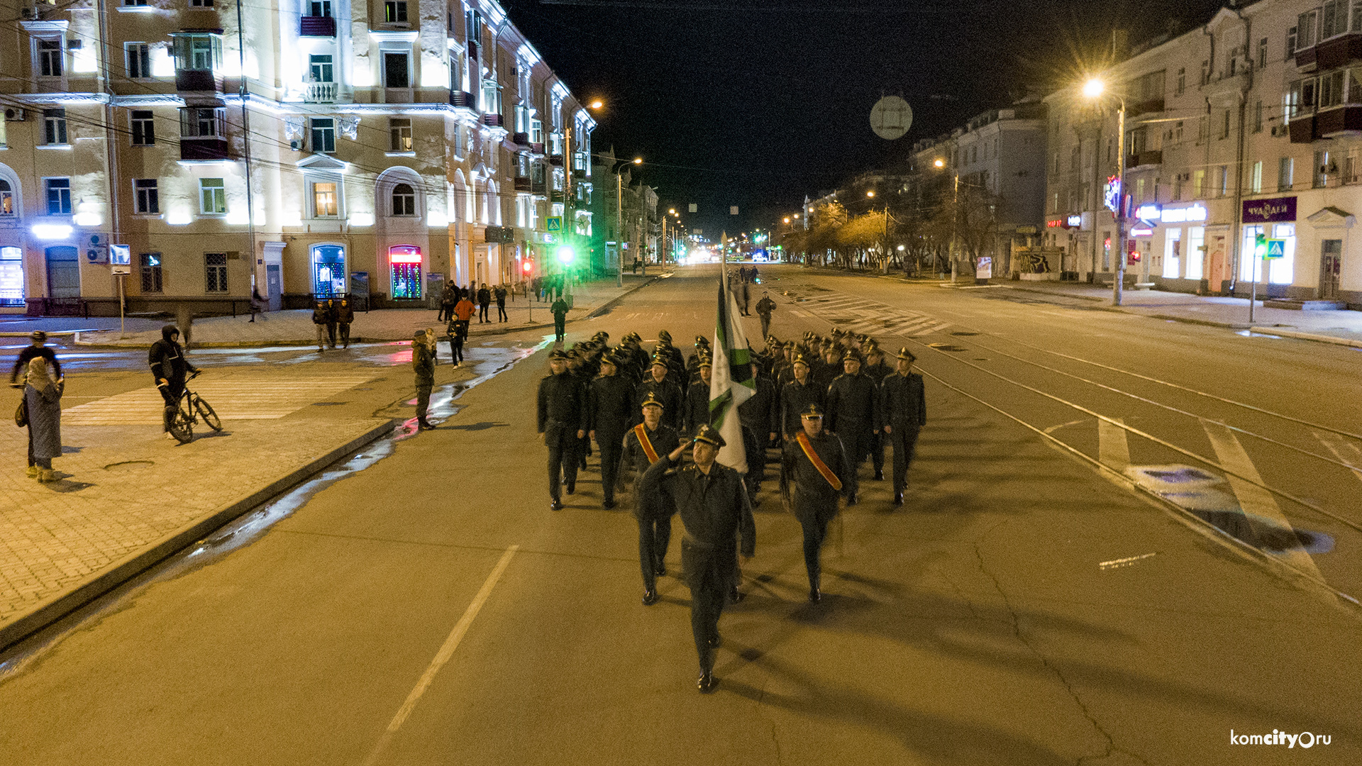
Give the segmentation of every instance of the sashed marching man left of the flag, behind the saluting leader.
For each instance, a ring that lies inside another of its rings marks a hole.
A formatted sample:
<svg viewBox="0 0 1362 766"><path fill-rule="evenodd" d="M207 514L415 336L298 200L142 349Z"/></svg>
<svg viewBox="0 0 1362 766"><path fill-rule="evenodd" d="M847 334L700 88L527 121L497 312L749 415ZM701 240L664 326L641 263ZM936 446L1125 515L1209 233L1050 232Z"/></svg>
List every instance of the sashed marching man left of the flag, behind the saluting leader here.
<svg viewBox="0 0 1362 766"><path fill-rule="evenodd" d="M643 568L643 605L658 602L658 579L667 574L663 562L671 542L671 515L677 512L666 488L643 492L643 474L648 466L681 446L676 429L662 425L662 402L648 397L643 402L643 423L624 435L621 480L633 480L633 515L639 519L639 566Z"/></svg>

